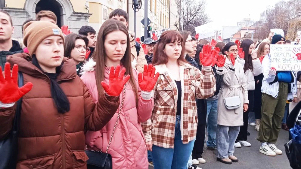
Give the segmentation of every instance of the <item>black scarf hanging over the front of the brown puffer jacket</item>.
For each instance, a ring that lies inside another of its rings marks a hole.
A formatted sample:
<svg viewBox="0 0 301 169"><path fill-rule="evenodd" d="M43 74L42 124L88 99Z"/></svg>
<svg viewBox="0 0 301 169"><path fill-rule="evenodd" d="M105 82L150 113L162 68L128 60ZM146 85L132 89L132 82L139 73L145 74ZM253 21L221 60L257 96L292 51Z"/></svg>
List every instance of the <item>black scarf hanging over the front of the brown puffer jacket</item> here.
<svg viewBox="0 0 301 169"><path fill-rule="evenodd" d="M46 73L42 70L35 55L33 55L32 63L49 77L51 97L53 99L55 107L57 108L57 111L59 113L68 112L70 110L70 102L64 91L61 89L60 85L57 83L57 76L61 72L62 65L56 68L56 73Z"/></svg>

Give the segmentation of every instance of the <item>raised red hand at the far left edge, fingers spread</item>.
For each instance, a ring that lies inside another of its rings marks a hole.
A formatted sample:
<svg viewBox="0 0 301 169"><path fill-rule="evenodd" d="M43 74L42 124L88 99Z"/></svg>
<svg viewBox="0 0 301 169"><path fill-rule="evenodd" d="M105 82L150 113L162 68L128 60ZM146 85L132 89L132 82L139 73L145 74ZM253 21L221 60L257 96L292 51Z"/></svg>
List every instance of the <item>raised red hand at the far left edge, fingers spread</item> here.
<svg viewBox="0 0 301 169"><path fill-rule="evenodd" d="M14 65L11 73L11 65L5 63L4 77L0 73L0 101L4 104L14 103L33 88L33 83L26 83L21 88L18 87L18 65ZM0 67L2 72L2 68Z"/></svg>

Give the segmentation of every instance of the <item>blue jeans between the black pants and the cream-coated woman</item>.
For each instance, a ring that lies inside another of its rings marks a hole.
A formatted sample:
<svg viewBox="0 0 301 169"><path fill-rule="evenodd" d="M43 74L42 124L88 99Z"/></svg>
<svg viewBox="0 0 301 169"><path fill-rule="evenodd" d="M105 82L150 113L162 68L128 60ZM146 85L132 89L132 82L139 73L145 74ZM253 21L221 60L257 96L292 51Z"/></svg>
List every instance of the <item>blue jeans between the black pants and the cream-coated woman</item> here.
<svg viewBox="0 0 301 169"><path fill-rule="evenodd" d="M207 100L207 120L208 141L206 141L206 144L207 147L216 147L217 99Z"/></svg>

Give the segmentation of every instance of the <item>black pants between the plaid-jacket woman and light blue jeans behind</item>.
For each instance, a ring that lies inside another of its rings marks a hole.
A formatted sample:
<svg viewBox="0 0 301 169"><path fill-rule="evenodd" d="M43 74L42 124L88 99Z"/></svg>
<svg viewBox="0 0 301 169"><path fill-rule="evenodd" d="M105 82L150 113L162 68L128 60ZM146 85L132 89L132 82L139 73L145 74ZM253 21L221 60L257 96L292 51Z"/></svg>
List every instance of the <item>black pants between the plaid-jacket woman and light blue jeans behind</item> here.
<svg viewBox="0 0 301 169"><path fill-rule="evenodd" d="M205 99L197 99L197 138L194 141L192 150L192 159L202 158L206 133L206 117L207 117L207 101Z"/></svg>

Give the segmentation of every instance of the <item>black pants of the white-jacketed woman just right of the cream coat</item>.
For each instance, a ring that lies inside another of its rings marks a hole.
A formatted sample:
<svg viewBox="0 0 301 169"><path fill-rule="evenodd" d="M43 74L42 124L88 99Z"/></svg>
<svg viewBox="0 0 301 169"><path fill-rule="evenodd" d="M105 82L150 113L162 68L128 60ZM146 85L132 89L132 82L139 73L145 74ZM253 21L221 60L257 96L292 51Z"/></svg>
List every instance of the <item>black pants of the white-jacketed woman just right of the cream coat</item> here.
<svg viewBox="0 0 301 169"><path fill-rule="evenodd" d="M248 131L248 119L249 119L249 110L253 109L253 100L254 100L254 90L248 91L248 98L249 98L249 108L246 112L244 112L244 125L240 126L239 134L235 143L240 141L247 141L247 131Z"/></svg>

